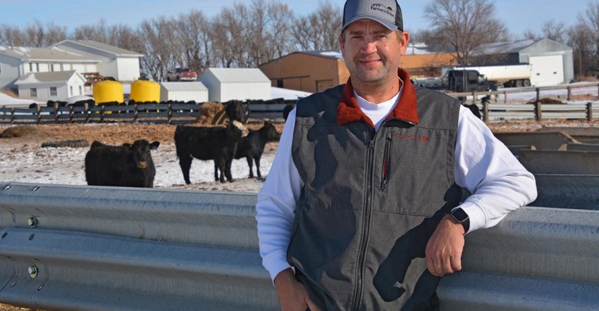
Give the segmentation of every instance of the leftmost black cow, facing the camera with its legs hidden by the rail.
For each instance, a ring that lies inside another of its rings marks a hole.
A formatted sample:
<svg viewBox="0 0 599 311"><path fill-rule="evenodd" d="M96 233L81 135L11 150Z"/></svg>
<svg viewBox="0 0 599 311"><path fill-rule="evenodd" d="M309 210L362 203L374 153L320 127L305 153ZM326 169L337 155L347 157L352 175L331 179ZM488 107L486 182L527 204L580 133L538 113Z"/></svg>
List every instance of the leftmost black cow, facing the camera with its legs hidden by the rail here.
<svg viewBox="0 0 599 311"><path fill-rule="evenodd" d="M151 150L160 145L145 139L110 146L94 141L85 155L85 179L89 186L152 188L156 168Z"/></svg>

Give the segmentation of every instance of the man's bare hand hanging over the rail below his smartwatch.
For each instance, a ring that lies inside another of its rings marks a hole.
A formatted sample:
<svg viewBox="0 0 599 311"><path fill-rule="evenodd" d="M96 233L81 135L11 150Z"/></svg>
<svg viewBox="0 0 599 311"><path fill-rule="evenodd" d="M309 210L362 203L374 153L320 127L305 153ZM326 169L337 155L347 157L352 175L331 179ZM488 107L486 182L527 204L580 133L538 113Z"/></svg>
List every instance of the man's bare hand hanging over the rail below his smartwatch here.
<svg viewBox="0 0 599 311"><path fill-rule="evenodd" d="M451 215L445 215L426 243L426 268L436 277L462 269L464 227Z"/></svg>

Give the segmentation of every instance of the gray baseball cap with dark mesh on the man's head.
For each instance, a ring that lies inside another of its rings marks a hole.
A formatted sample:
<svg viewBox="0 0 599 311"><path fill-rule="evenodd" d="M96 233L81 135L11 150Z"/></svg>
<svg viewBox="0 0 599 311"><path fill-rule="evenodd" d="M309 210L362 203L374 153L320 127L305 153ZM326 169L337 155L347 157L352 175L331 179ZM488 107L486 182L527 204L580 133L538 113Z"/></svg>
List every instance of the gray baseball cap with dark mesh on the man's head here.
<svg viewBox="0 0 599 311"><path fill-rule="evenodd" d="M404 30L402 8L395 0L347 0L343 8L343 27L356 20L368 18L381 23L390 30Z"/></svg>

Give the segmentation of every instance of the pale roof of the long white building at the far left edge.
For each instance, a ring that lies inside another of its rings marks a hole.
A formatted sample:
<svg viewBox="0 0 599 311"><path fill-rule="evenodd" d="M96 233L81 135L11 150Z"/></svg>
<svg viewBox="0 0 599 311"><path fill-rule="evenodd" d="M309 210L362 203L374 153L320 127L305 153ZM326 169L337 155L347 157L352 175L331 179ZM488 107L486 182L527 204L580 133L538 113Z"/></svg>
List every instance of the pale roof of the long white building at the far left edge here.
<svg viewBox="0 0 599 311"><path fill-rule="evenodd" d="M58 48L26 48L22 46L0 46L0 53L12 56L22 61L78 61L85 63L99 63L87 56L64 51Z"/></svg>

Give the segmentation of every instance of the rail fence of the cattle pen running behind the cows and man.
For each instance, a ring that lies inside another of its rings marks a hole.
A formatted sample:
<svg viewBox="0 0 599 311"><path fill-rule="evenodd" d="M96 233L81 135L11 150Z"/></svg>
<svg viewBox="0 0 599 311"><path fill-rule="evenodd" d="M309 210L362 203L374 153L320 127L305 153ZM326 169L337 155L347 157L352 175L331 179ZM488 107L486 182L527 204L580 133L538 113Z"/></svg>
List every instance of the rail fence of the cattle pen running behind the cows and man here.
<svg viewBox="0 0 599 311"><path fill-rule="evenodd" d="M599 115L599 82L558 87L530 87L499 91L449 94L466 103L475 103L485 122L510 120L588 120ZM280 120L285 106L297 101L244 101L249 118ZM132 103L127 105L80 106L52 103L46 107L0 107L0 124L44 124L72 122L196 122L202 103ZM223 118L214 120L221 124Z"/></svg>

